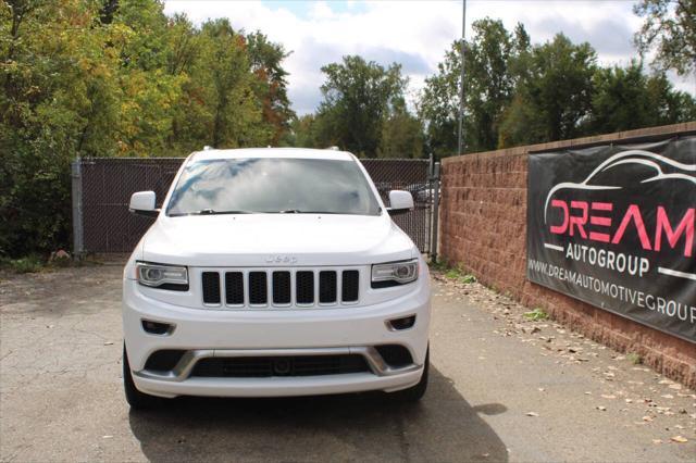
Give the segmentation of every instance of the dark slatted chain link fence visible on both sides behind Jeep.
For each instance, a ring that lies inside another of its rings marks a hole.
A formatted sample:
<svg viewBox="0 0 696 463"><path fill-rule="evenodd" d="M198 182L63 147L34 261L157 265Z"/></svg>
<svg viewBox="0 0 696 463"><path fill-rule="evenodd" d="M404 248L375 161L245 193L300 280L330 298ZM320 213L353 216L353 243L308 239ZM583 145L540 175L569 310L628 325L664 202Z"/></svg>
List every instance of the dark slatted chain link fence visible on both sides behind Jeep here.
<svg viewBox="0 0 696 463"><path fill-rule="evenodd" d="M91 158L73 164L73 232L76 253L130 252L153 218L128 212L130 195L152 190L158 207L184 158ZM382 200L394 189L410 191L415 209L394 217L422 252L432 242L435 189L427 160L361 160Z"/></svg>

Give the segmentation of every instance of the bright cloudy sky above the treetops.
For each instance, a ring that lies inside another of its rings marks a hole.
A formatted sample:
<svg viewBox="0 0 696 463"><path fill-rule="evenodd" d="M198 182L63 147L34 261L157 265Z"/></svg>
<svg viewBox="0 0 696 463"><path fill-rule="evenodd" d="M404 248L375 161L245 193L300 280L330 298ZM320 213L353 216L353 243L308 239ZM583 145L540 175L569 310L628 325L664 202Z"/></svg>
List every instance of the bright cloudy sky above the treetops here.
<svg viewBox="0 0 696 463"><path fill-rule="evenodd" d="M626 65L637 58L633 35L642 20L631 0L469 0L467 37L472 22L499 18L512 30L524 24L532 42L562 32L573 42L588 41L604 65ZM233 27L261 30L291 52L285 61L288 96L298 115L313 112L324 82L321 67L346 54L382 65L402 65L413 101L452 41L461 36L461 0L431 1L184 1L166 0L167 14L186 13L196 24L227 17ZM696 77L670 76L675 87L696 96Z"/></svg>

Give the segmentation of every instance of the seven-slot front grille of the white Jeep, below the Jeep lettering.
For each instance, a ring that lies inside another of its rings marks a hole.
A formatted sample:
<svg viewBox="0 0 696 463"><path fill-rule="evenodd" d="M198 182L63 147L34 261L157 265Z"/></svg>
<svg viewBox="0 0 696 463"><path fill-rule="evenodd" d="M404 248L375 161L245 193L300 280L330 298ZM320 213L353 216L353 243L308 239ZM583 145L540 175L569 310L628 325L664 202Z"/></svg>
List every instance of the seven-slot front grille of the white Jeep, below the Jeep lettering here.
<svg viewBox="0 0 696 463"><path fill-rule="evenodd" d="M360 296L360 273L357 270L202 272L201 289L203 303L209 305L350 304Z"/></svg>

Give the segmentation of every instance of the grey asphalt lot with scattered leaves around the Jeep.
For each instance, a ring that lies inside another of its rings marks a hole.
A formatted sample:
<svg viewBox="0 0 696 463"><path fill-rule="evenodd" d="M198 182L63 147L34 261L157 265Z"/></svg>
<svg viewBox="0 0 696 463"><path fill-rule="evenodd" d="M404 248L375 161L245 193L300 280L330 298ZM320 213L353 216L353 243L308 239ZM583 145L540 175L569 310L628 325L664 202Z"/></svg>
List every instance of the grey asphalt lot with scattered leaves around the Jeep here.
<svg viewBox="0 0 696 463"><path fill-rule="evenodd" d="M431 384L419 404L378 393L186 398L130 412L120 301L117 264L2 277L1 461L696 456L693 391L554 323L525 323L521 308L477 285L435 280Z"/></svg>

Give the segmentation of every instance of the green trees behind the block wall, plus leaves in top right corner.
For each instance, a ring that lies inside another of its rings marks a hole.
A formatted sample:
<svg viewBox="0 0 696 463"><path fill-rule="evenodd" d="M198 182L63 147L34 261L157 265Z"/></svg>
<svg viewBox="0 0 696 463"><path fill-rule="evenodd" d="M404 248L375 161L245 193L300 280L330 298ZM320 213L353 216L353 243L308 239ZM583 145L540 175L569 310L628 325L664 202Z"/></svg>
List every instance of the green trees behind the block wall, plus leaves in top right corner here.
<svg viewBox="0 0 696 463"><path fill-rule="evenodd" d="M674 11L692 8L686 3ZM691 40L689 26L680 27L674 29L680 40ZM675 91L663 73L646 74L641 63L600 67L588 43L572 43L562 34L532 46L522 25L510 33L501 22L486 18L475 22L473 29L464 53L467 152L696 117L693 97ZM437 157L457 151L460 73L455 42L437 74L426 78L418 102L425 145Z"/></svg>

